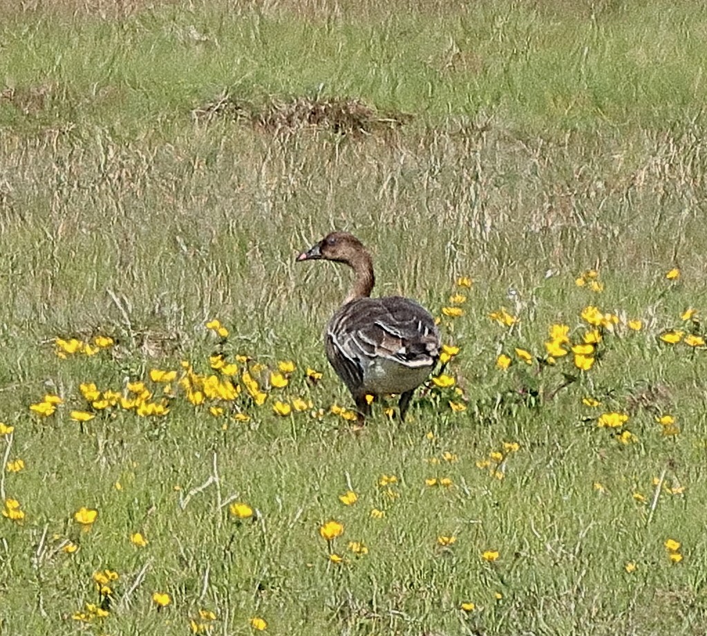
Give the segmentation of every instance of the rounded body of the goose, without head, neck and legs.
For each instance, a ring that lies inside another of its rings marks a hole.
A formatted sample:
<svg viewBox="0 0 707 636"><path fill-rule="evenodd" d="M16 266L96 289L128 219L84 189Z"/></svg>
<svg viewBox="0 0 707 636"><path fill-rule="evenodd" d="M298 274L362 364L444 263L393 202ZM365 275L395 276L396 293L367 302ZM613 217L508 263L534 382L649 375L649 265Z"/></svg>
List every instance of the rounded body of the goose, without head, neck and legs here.
<svg viewBox="0 0 707 636"><path fill-rule="evenodd" d="M400 296L358 298L329 320L327 358L354 396L405 393L440 354L440 335L421 305Z"/></svg>

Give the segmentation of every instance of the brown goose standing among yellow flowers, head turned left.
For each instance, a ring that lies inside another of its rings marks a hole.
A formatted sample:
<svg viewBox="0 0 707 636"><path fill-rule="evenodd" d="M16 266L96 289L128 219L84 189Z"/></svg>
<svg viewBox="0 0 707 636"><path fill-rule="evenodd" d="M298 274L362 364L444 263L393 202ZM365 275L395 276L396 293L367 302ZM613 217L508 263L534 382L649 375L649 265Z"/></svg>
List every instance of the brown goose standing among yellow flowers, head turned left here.
<svg viewBox="0 0 707 636"><path fill-rule="evenodd" d="M332 260L354 270L354 284L325 333L327 359L349 388L358 422L370 415L367 395L400 395L400 420L415 389L440 355L440 333L430 313L402 296L370 298L373 260L348 232L332 232L298 255L298 261Z"/></svg>

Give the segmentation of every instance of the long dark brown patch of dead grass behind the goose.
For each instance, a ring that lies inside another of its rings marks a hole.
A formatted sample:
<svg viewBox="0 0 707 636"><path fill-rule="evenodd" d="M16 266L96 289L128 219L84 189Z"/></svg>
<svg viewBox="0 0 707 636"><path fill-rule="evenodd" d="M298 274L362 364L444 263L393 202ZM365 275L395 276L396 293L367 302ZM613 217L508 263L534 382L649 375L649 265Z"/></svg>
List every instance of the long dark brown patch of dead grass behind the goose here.
<svg viewBox="0 0 707 636"><path fill-rule="evenodd" d="M227 91L194 108L197 122L226 118L245 122L267 132L330 130L339 134L375 134L397 129L412 120L402 112L380 112L358 99L299 97L289 101L269 99L262 105L238 100Z"/></svg>

